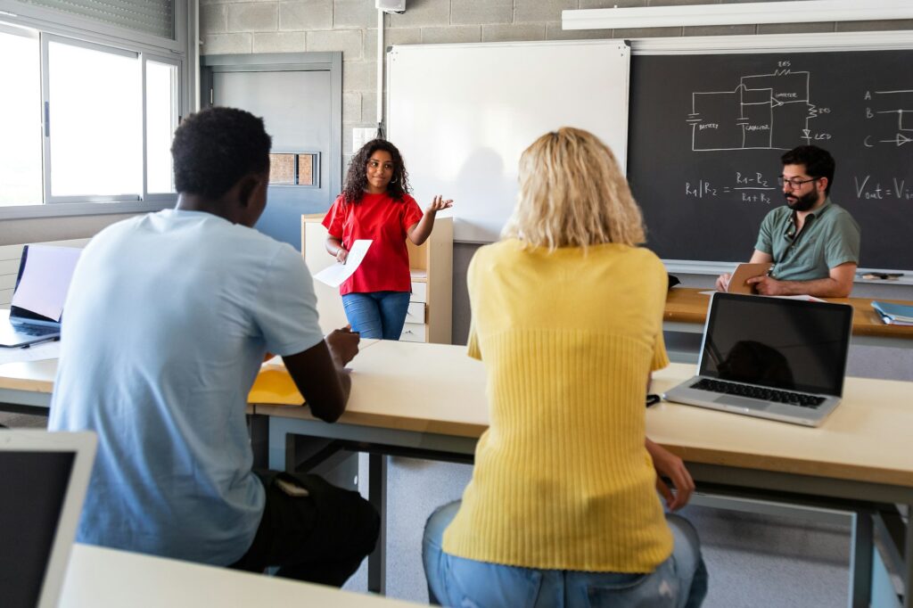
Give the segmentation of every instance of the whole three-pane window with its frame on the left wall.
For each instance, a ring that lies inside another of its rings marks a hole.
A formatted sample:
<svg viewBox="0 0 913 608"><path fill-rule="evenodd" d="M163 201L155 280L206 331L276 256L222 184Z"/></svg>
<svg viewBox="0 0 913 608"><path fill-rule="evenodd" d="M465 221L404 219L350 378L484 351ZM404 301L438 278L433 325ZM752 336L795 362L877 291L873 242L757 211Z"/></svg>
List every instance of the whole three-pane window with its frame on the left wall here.
<svg viewBox="0 0 913 608"><path fill-rule="evenodd" d="M8 4L0 0L0 9ZM186 5L144 4L152 25L125 33L47 8L53 1L38 4L0 10L0 218L172 204L171 143L188 101L182 78L190 78L174 26ZM61 4L69 5L81 4ZM163 32L170 37L155 38Z"/></svg>

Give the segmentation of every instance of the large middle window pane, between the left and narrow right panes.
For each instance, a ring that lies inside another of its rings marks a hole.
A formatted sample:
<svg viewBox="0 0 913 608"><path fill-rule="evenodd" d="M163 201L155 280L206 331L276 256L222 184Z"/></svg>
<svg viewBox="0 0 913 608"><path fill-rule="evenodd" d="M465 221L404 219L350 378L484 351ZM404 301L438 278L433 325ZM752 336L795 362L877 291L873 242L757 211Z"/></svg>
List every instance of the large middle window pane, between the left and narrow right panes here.
<svg viewBox="0 0 913 608"><path fill-rule="evenodd" d="M139 58L52 41L47 65L51 196L138 196Z"/></svg>

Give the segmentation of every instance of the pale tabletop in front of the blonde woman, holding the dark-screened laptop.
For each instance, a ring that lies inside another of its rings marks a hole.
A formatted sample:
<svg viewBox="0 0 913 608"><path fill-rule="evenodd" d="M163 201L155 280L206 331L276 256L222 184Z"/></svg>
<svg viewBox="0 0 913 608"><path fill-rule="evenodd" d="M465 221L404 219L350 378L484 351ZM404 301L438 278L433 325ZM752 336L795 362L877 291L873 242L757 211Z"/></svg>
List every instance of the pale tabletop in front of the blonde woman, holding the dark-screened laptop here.
<svg viewBox="0 0 913 608"><path fill-rule="evenodd" d="M477 437L488 427L485 368L466 347L382 341L352 363L352 396L337 425ZM695 365L654 374L653 393ZM818 428L690 405L647 411L647 435L689 462L913 488L913 383L847 378L844 401ZM310 418L306 407L257 405L258 414Z"/></svg>

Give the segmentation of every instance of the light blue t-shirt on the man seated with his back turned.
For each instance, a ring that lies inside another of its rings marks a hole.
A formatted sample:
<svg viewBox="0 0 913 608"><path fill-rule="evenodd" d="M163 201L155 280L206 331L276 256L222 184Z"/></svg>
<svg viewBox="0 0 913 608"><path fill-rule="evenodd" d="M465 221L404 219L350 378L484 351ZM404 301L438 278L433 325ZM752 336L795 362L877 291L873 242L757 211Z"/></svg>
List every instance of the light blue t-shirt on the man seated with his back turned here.
<svg viewBox="0 0 913 608"><path fill-rule="evenodd" d="M167 210L86 246L64 307L51 430L99 435L78 540L227 565L257 532L247 393L265 351L323 339L291 246Z"/></svg>

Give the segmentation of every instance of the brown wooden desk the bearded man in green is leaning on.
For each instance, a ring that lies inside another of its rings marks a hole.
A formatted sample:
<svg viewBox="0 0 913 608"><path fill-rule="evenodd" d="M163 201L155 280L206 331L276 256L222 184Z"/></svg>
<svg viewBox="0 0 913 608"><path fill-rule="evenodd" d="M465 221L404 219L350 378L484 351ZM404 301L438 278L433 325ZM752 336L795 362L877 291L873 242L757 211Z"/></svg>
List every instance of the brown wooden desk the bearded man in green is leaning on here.
<svg viewBox="0 0 913 608"><path fill-rule="evenodd" d="M663 330L667 332L703 334L704 322L707 320L707 310L710 304L710 297L701 293L703 291L707 291L707 289L682 287L670 289L666 297ZM876 311L872 309L872 299L832 298L827 299L827 301L849 304L853 307L852 344L913 348L913 327L882 323ZM913 302L898 299L886 299L883 301L913 304ZM687 351L686 354L693 355L693 361L696 362L698 360L697 349L693 352ZM691 360L691 357L687 358Z"/></svg>

